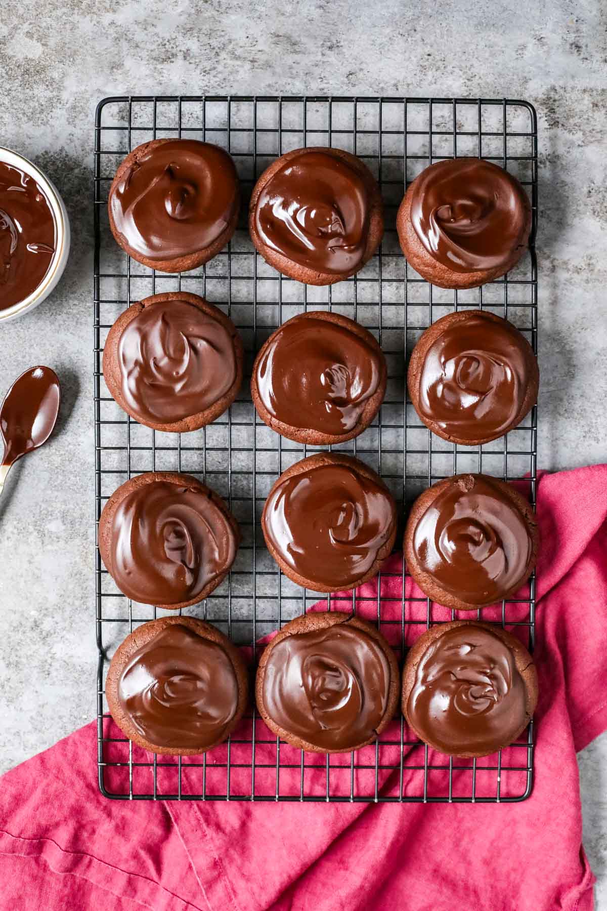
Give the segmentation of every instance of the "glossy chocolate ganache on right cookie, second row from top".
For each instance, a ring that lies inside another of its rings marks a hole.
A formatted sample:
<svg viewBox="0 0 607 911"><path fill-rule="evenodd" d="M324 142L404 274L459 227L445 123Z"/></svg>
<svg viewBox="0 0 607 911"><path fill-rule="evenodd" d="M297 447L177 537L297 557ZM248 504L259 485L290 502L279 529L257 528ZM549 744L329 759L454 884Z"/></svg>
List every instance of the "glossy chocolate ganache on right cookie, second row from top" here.
<svg viewBox="0 0 607 911"><path fill-rule="evenodd" d="M447 325L420 370L420 415L462 440L506 433L527 393L526 344L483 312Z"/></svg>

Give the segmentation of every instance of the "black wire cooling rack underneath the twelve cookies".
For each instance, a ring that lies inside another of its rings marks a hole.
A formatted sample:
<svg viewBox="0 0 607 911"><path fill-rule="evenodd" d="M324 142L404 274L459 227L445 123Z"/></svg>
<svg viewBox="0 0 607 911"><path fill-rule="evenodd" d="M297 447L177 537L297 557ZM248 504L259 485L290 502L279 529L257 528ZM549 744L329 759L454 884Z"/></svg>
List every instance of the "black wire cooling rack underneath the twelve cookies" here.
<svg viewBox="0 0 607 911"><path fill-rule="evenodd" d="M119 250L107 222L107 189L131 148L157 137L207 139L227 148L243 189L238 230L206 267L181 275L151 271ZM379 179L386 233L376 256L348 281L313 288L279 275L256 253L247 230L247 201L258 175L290 148L332 146L363 159ZM478 156L509 169L527 188L533 210L529 254L505 278L481 289L435 288L400 252L396 210L404 189L432 161ZM106 333L120 312L149 294L197 292L228 312L253 357L268 335L306 309L343 313L375 333L389 366L385 402L363 434L339 449L358 455L383 477L404 508L426 486L460 472L525 478L535 505L536 409L494 443L456 446L431 435L406 397L406 351L447 312L481 307L507 317L537 348L537 119L524 101L402 97L111 97L96 111L95 134L95 443L96 519L127 478L152 470L186 471L224 496L243 542L229 578L187 613L216 624L251 663L258 641L298 616L319 595L299 589L269 557L259 517L270 486L314 451L283 439L256 416L248 384L228 413L190 434L155 432L127 417L104 383ZM400 657L430 624L474 614L451 612L411 594L402 558L383 584L355 599L329 596L327 609L353 609L375 619ZM531 649L535 582L528 597L482 609L477 616L517 632ZM165 616L164 612L161 612ZM500 803L531 793L532 724L513 744L481 760L450 759L420 743L402 718L359 752L319 756L278 742L252 710L228 744L184 759L152 756L126 741L107 712L108 660L156 609L126 599L96 552L97 730L99 787L117 799Z"/></svg>

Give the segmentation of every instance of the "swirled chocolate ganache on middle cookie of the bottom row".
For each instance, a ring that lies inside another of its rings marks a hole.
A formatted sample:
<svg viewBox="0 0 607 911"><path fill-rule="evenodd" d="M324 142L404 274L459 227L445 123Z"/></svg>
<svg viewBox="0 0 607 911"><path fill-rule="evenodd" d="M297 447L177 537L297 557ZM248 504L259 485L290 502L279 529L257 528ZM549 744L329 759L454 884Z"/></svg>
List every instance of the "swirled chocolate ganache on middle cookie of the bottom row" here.
<svg viewBox="0 0 607 911"><path fill-rule="evenodd" d="M287 636L271 648L263 703L273 722L323 750L375 734L389 695L389 663L367 633L344 623Z"/></svg>

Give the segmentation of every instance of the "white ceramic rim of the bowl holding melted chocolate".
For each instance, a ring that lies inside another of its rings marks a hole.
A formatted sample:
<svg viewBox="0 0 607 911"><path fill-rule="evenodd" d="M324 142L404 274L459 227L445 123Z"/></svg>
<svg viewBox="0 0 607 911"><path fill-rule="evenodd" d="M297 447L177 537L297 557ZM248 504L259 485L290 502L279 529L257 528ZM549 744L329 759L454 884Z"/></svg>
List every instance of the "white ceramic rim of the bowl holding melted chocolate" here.
<svg viewBox="0 0 607 911"><path fill-rule="evenodd" d="M11 152L8 148L0 148L0 161L25 171L25 174L35 179L35 182L45 191L46 199L55 216L56 225L55 254L44 279L35 289L35 292L32 292L25 300L13 304L12 307L6 307L5 310L0 310L0 325L2 325L3 322L15 320L18 316L23 316L24 313L34 310L53 291L66 268L67 257L69 256L70 230L64 201L59 196L56 187L40 169L36 168L31 161L24 159L21 155L17 155L16 152Z"/></svg>

